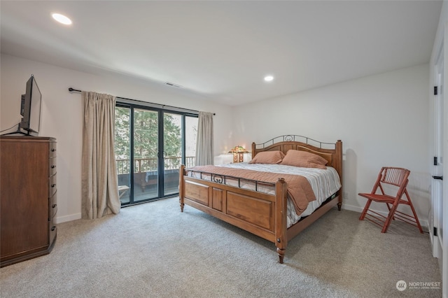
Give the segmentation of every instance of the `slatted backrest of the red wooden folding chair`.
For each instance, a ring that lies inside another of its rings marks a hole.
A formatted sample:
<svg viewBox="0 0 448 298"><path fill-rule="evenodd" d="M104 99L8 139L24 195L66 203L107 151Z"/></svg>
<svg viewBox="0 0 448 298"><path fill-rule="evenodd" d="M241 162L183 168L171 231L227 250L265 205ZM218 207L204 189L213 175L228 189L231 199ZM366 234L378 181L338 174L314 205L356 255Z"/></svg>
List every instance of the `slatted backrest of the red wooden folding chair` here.
<svg viewBox="0 0 448 298"><path fill-rule="evenodd" d="M411 173L411 171L409 171L408 169L383 166L381 168L381 171L379 171L377 183L375 183L373 187L372 194L377 192L378 187L381 190L382 194L386 194L384 188L381 185L382 183L386 183L398 187L395 196L400 198L402 196L402 193L406 190L407 182L409 181L407 179L409 177L409 173Z"/></svg>

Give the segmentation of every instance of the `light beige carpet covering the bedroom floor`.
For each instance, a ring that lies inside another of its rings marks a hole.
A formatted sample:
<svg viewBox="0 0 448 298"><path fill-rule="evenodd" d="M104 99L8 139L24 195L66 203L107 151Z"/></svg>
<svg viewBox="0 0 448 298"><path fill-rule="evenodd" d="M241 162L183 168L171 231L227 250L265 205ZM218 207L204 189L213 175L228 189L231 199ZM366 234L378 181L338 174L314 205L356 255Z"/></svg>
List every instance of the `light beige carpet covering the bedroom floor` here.
<svg viewBox="0 0 448 298"><path fill-rule="evenodd" d="M178 198L58 225L50 255L0 270L1 297L441 297L428 234L393 222L387 234L359 213L329 213L275 246ZM396 288L398 281L408 288Z"/></svg>

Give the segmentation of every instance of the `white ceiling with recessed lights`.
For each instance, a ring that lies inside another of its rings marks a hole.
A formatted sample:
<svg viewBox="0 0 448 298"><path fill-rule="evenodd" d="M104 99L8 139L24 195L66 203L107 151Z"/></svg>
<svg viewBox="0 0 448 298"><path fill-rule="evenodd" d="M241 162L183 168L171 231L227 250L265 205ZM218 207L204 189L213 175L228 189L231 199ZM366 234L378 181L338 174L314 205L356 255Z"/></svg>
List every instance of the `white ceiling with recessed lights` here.
<svg viewBox="0 0 448 298"><path fill-rule="evenodd" d="M428 63L441 7L442 1L2 0L0 45L9 55L174 83L234 106ZM73 24L56 23L55 12ZM265 83L267 74L274 81Z"/></svg>

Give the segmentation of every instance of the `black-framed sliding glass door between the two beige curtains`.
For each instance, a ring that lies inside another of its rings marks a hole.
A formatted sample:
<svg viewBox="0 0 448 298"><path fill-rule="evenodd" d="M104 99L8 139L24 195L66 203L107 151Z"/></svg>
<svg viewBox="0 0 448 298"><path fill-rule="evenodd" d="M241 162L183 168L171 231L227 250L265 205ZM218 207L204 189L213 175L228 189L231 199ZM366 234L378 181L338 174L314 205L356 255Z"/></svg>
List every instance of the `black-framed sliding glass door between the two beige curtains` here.
<svg viewBox="0 0 448 298"><path fill-rule="evenodd" d="M116 161L122 205L179 193L179 167L193 165L197 116L117 104Z"/></svg>

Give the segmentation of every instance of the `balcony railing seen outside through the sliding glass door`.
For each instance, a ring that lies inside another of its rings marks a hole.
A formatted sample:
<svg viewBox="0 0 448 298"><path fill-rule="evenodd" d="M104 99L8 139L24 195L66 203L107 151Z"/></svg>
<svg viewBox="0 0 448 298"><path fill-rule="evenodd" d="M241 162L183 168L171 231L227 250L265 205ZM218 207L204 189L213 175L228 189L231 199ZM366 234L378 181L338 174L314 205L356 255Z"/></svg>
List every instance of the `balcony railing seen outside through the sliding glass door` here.
<svg viewBox="0 0 448 298"><path fill-rule="evenodd" d="M126 174L130 173L130 159L116 159L117 162L117 173ZM182 157L165 157L164 166L165 170L174 170L181 167ZM191 167L195 165L195 157L186 157L186 167ZM158 171L158 158L148 157L148 158L136 158L134 159L134 172L150 172Z"/></svg>

